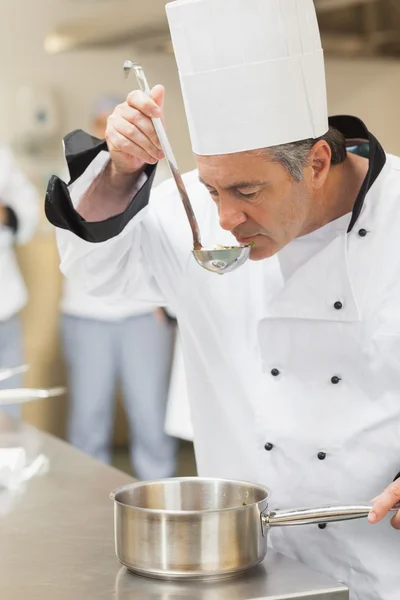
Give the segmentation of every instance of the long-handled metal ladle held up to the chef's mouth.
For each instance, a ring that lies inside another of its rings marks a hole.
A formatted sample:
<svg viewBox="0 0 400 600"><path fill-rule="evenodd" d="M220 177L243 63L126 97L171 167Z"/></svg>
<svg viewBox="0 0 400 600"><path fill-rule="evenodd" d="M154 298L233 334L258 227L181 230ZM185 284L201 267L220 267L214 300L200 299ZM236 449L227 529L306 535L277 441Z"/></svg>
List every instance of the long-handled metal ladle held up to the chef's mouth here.
<svg viewBox="0 0 400 600"><path fill-rule="evenodd" d="M151 94L150 86L142 67L130 60L124 63L124 74L127 78L131 70L135 71L140 89L148 96ZM193 234L193 255L196 261L203 269L224 275L241 267L250 256L251 246L222 246L221 248L208 249L203 248L200 239L200 230L197 223L193 207L190 203L185 184L178 169L178 163L168 141L167 134L161 119L152 119L154 129L156 130L158 139L160 140L161 148L165 154L171 174L175 179L179 195L182 199L183 206L186 211L187 218Z"/></svg>

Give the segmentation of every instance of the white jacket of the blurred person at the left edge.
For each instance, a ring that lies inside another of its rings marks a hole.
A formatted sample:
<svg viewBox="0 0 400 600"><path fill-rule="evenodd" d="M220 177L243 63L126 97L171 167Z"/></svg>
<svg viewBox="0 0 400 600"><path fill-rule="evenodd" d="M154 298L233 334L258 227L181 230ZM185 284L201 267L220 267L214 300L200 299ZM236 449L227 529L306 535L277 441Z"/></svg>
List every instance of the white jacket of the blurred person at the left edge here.
<svg viewBox="0 0 400 600"><path fill-rule="evenodd" d="M10 227L0 225L0 321L5 321L27 302L14 244L31 240L40 217L37 193L6 146L0 146L0 204L9 207L17 218L15 233Z"/></svg>

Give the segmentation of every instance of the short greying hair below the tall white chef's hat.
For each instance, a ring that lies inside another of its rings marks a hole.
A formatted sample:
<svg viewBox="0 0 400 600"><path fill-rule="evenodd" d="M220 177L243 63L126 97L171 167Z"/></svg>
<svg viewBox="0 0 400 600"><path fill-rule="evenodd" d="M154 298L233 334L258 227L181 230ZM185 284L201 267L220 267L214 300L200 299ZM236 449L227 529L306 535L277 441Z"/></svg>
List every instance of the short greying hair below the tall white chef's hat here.
<svg viewBox="0 0 400 600"><path fill-rule="evenodd" d="M320 140L325 140L331 149L331 165L338 165L345 160L346 140L340 131L333 127L330 127L329 131L319 138L273 146L265 148L263 152L273 162L283 165L295 181L301 181L304 169L309 165L310 152Z"/></svg>

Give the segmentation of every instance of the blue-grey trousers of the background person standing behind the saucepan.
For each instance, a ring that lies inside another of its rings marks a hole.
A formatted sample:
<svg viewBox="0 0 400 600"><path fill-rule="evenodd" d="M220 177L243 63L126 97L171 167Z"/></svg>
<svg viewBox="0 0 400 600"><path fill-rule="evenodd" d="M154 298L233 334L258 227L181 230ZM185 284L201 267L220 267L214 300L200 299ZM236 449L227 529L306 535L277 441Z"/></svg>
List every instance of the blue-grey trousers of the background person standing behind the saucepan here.
<svg viewBox="0 0 400 600"><path fill-rule="evenodd" d="M139 479L171 477L177 440L164 432L173 329L153 314L117 322L64 316L68 370L68 440L110 462L115 392L119 382Z"/></svg>

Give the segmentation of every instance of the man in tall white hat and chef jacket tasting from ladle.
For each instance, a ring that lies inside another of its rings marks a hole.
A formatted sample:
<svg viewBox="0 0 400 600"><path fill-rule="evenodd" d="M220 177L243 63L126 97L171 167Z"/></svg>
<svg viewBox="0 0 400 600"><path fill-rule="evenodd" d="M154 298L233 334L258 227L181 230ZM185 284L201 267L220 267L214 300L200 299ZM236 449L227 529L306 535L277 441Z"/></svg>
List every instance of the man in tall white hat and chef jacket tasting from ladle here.
<svg viewBox="0 0 400 600"><path fill-rule="evenodd" d="M61 268L93 294L140 289L174 310L200 475L265 484L275 508L375 498L369 520L272 543L352 600L398 600L400 159L358 118L328 119L312 0L178 0L167 14L203 243L254 242L253 260L201 269L174 182L151 191L157 86L129 94L105 143L66 137L71 181L52 178L46 200ZM347 151L360 144L368 158Z"/></svg>

